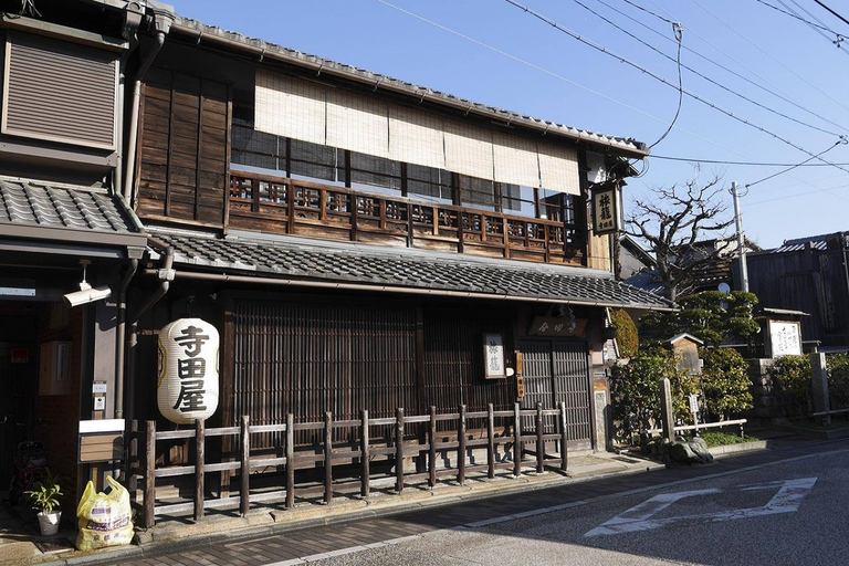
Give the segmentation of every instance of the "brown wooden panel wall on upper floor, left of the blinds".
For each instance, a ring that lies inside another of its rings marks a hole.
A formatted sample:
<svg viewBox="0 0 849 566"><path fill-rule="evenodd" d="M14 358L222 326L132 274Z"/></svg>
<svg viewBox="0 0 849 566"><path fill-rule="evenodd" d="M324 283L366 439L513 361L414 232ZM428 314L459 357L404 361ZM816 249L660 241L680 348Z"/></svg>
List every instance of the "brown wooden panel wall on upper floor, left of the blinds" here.
<svg viewBox="0 0 849 566"><path fill-rule="evenodd" d="M142 218L224 224L230 113L228 85L150 71L139 132Z"/></svg>

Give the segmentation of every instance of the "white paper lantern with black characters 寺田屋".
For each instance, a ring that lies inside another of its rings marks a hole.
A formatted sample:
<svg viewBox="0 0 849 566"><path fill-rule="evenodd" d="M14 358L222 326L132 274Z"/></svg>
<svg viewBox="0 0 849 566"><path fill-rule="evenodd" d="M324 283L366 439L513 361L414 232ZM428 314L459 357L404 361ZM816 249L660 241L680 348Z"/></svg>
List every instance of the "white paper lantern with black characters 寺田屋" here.
<svg viewBox="0 0 849 566"><path fill-rule="evenodd" d="M218 331L200 318L179 318L159 331L157 403L163 417L191 424L218 408Z"/></svg>

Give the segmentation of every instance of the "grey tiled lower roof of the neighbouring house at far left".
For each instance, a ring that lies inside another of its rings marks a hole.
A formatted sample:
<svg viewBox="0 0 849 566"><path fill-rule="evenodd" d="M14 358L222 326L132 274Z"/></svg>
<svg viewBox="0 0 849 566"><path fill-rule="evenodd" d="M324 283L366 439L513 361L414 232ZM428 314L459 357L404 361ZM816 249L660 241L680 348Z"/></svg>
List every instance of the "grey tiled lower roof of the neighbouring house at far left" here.
<svg viewBox="0 0 849 566"><path fill-rule="evenodd" d="M109 193L87 187L0 177L0 224L129 234L129 214Z"/></svg>

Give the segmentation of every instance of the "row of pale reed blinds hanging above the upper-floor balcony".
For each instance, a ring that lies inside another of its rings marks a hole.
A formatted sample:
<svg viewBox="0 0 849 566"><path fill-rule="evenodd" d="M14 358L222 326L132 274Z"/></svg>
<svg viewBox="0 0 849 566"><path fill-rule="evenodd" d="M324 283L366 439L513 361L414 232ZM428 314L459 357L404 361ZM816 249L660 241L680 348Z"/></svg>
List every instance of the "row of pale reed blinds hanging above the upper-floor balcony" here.
<svg viewBox="0 0 849 566"><path fill-rule="evenodd" d="M256 71L255 128L489 181L580 195L577 153L547 139L491 129Z"/></svg>

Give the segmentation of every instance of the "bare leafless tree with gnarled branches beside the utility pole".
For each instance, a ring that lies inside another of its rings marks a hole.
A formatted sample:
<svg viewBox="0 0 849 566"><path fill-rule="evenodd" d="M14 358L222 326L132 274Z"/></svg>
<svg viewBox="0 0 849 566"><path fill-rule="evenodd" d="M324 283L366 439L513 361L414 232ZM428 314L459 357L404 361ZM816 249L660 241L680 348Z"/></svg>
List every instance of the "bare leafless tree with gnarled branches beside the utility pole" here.
<svg viewBox="0 0 849 566"><path fill-rule="evenodd" d="M695 180L681 187L654 189L648 200L635 200L626 220L626 232L648 243L657 261L658 275L672 301L694 272L716 261L721 250L696 245L705 234L721 232L734 218L726 218L726 200L719 177L700 186Z"/></svg>

